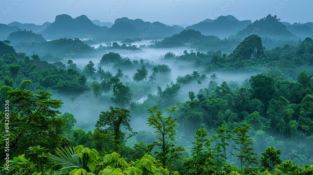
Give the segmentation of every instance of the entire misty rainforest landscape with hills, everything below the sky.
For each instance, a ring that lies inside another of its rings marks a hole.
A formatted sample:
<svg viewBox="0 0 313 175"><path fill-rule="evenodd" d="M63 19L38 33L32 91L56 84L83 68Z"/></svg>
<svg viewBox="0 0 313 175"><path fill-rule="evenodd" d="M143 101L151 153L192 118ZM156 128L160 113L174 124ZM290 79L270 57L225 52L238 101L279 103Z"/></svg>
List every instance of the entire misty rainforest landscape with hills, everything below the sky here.
<svg viewBox="0 0 313 175"><path fill-rule="evenodd" d="M0 31L0 174L313 174L310 23L63 14Z"/></svg>

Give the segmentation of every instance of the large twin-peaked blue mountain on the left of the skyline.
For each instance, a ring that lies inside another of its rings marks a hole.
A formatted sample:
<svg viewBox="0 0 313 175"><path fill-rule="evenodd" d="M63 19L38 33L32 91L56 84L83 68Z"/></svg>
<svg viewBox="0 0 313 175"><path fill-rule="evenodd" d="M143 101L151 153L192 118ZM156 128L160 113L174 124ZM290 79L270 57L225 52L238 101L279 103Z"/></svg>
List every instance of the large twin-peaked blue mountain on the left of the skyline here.
<svg viewBox="0 0 313 175"><path fill-rule="evenodd" d="M58 15L55 21L43 32L47 39L94 38L103 35L109 28L94 24L86 15L72 18L67 14Z"/></svg>

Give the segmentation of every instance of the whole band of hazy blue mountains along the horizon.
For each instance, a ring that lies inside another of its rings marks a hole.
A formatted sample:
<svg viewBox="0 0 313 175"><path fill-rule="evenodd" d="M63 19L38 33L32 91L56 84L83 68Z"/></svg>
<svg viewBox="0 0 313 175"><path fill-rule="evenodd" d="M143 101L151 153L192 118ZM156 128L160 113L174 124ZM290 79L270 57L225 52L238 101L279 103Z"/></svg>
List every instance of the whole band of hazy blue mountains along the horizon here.
<svg viewBox="0 0 313 175"><path fill-rule="evenodd" d="M107 27L105 26L110 26ZM183 27L182 27L183 26ZM96 42L107 40L124 40L126 38L141 38L142 40L155 40L171 37L184 29L194 29L203 35L214 35L219 38L240 38L257 34L274 40L296 40L299 37L311 37L313 35L313 22L293 23L280 22L276 16L268 15L260 20L240 21L232 15L219 16L216 19L205 19L199 23L187 26L169 26L162 22L148 22L141 19L129 19L127 17L117 18L115 23L91 21L86 15L73 18L67 14L57 15L55 21L45 22L43 25L33 23L11 22L8 25L0 24L0 38L7 39L9 33L17 31L18 28L32 30L40 33L47 40L59 38L83 38L96 39ZM233 36L232 36L233 35ZM298 37L299 36L299 37ZM169 40L168 40L169 41ZM173 40L171 41L173 42ZM181 41L179 41L181 42Z"/></svg>

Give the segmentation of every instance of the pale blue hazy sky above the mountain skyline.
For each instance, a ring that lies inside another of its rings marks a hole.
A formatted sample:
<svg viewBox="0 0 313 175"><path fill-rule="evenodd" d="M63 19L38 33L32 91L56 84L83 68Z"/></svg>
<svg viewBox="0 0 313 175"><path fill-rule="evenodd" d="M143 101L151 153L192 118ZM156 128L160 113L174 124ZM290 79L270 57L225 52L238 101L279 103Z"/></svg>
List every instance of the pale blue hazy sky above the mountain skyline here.
<svg viewBox="0 0 313 175"><path fill-rule="evenodd" d="M0 23L43 24L60 14L85 14L101 22L140 18L168 25L192 25L220 15L253 22L271 14L281 21L305 23L313 22L312 7L312 0L1 0Z"/></svg>

